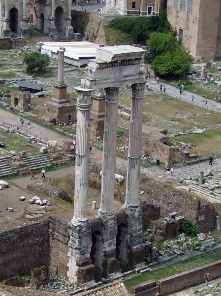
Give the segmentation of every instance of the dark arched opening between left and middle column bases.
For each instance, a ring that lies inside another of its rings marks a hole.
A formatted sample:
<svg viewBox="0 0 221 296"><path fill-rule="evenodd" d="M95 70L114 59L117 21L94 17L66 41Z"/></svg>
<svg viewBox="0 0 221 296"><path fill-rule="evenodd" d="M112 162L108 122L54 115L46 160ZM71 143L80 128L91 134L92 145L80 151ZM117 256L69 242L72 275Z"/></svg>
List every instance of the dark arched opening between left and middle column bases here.
<svg viewBox="0 0 221 296"><path fill-rule="evenodd" d="M101 276L102 274L102 258L103 258L103 245L102 237L99 231L95 231L92 234L92 250L91 259L92 263L95 265L95 275Z"/></svg>

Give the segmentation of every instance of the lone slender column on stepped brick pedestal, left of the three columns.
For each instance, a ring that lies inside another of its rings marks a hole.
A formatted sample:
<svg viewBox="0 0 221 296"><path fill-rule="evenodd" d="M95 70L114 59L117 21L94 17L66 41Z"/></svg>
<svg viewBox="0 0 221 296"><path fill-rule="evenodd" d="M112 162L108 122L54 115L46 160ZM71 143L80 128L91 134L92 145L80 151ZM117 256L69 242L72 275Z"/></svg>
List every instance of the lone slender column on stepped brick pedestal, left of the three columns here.
<svg viewBox="0 0 221 296"><path fill-rule="evenodd" d="M63 79L64 49L59 49L58 81L55 84L54 97L45 102L44 118L55 124L72 122L75 119L75 106L67 98L67 84Z"/></svg>

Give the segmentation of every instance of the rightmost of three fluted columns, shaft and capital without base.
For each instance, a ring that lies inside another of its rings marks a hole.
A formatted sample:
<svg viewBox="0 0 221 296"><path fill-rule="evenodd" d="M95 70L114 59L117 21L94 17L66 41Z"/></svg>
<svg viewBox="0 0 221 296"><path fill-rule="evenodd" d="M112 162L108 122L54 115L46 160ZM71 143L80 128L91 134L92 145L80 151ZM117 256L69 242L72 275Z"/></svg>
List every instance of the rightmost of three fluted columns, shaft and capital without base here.
<svg viewBox="0 0 221 296"><path fill-rule="evenodd" d="M136 207L138 202L140 153L142 140L142 110L144 83L132 84L132 108L127 157L126 206Z"/></svg>

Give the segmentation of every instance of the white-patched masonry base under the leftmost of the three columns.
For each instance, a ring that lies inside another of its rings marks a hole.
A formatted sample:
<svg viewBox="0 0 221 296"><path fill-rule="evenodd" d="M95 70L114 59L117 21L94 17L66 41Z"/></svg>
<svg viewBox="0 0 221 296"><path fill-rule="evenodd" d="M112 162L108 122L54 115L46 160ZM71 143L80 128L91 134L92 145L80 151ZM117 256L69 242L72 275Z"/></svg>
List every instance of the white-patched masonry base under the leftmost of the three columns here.
<svg viewBox="0 0 221 296"><path fill-rule="evenodd" d="M84 283L95 279L95 266L90 258L92 237L91 223L71 221L68 224L70 233L67 276L69 282L82 287Z"/></svg>

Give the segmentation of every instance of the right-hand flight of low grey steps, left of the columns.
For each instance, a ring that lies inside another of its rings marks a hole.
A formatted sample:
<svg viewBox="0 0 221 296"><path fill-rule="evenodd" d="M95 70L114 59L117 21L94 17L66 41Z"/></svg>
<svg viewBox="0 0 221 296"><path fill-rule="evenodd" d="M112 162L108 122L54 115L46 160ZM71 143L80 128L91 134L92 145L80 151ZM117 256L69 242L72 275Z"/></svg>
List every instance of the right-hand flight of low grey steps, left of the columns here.
<svg viewBox="0 0 221 296"><path fill-rule="evenodd" d="M52 159L48 154L24 157L23 161L27 164L27 166L30 169L34 169L34 170L41 169L42 167L43 168L52 167L52 164L51 164Z"/></svg>

